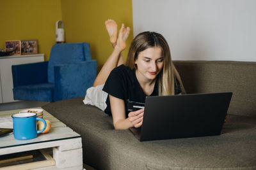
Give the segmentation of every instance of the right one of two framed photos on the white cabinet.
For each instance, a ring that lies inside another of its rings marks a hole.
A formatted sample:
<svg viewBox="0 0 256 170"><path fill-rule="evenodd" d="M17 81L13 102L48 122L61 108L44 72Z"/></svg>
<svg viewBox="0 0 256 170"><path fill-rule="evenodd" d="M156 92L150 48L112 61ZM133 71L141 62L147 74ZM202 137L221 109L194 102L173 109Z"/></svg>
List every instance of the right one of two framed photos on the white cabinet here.
<svg viewBox="0 0 256 170"><path fill-rule="evenodd" d="M37 39L21 40L21 53L22 55L38 53Z"/></svg>

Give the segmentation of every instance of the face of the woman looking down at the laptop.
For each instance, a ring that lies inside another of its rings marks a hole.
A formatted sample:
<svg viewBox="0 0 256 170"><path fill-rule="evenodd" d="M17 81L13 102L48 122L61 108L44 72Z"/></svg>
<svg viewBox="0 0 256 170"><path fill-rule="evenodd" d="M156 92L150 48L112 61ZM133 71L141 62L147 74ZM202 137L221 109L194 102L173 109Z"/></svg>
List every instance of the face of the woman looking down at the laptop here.
<svg viewBox="0 0 256 170"><path fill-rule="evenodd" d="M143 78L145 81L154 80L164 66L162 49L158 46L147 48L138 54L134 63L137 64L137 78Z"/></svg>

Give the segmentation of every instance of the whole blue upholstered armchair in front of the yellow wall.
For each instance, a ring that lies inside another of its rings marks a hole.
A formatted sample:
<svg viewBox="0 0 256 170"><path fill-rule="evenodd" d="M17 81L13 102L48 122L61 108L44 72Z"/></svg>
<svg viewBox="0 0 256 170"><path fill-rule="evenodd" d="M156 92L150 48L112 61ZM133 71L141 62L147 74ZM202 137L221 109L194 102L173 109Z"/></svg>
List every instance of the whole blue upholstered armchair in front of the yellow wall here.
<svg viewBox="0 0 256 170"><path fill-rule="evenodd" d="M97 61L88 43L52 46L49 62L12 66L13 98L24 101L60 101L83 97L96 77Z"/></svg>

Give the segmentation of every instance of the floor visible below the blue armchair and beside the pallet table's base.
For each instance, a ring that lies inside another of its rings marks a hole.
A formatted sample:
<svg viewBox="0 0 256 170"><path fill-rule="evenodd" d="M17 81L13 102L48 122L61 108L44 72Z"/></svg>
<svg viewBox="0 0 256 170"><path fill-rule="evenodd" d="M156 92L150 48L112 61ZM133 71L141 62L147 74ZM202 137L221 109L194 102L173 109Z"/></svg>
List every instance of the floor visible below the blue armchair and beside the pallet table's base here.
<svg viewBox="0 0 256 170"><path fill-rule="evenodd" d="M1 103L0 111L18 110L18 109L25 109L25 108L37 108L37 107L42 107L48 103L49 102L44 102L44 101L16 101L12 103ZM93 167L90 167L86 164L84 164L83 167L86 170L95 170Z"/></svg>

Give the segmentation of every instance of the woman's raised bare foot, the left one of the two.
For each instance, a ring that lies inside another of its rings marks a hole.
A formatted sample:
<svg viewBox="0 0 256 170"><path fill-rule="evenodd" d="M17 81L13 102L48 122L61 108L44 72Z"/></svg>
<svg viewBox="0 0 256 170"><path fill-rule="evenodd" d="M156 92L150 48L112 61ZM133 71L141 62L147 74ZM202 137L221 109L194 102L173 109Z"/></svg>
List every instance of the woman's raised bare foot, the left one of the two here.
<svg viewBox="0 0 256 170"><path fill-rule="evenodd" d="M109 34L109 41L115 46L117 39L117 24L114 20L106 20L105 25Z"/></svg>

